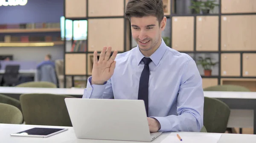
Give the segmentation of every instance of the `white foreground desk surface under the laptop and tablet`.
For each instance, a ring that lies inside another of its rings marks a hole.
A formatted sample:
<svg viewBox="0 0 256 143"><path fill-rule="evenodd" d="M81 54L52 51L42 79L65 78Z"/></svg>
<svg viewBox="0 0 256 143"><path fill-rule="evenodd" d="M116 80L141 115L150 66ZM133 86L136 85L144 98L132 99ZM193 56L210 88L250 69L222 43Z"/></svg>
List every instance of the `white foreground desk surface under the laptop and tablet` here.
<svg viewBox="0 0 256 143"><path fill-rule="evenodd" d="M73 127L68 128L67 131L61 132L47 138L39 137L11 137L10 134L21 132L33 127L55 127L63 128L60 126L37 126L37 125L18 125L18 124L0 124L0 139L3 143L140 143L133 141L118 141L118 140L89 140L77 139ZM150 143L161 143L170 133L166 132L157 137ZM208 134L208 133L200 133ZM256 135L245 134L222 134L218 143L255 143ZM147 143L147 142L141 142Z"/></svg>

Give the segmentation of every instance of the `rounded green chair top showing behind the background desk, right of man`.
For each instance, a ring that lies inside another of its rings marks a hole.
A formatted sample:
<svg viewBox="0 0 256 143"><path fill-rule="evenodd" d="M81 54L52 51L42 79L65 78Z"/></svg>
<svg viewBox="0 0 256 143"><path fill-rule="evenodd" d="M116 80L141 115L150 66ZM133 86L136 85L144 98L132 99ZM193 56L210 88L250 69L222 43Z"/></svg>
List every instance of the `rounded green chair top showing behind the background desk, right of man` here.
<svg viewBox="0 0 256 143"><path fill-rule="evenodd" d="M211 87L204 88L204 91L240 91L240 92L250 92L249 89L239 85L231 85L231 84L224 84L224 85L216 85Z"/></svg>

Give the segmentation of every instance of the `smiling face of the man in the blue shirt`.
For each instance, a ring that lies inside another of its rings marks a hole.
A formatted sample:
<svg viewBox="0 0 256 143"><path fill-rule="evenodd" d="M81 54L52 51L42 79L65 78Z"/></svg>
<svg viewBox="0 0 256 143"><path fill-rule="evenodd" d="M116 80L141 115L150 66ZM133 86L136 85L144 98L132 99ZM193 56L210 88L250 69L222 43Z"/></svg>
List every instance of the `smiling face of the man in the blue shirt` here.
<svg viewBox="0 0 256 143"><path fill-rule="evenodd" d="M140 50L148 51L158 48L161 42L161 33L165 28L166 18L159 22L157 17L131 17L131 33L138 43Z"/></svg>

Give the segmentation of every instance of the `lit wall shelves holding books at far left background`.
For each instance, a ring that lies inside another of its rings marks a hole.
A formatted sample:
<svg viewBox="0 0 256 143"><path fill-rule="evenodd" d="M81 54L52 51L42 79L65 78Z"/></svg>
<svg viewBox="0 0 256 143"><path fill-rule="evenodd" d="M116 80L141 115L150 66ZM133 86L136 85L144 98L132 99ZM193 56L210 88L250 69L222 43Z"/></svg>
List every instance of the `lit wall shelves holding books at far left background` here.
<svg viewBox="0 0 256 143"><path fill-rule="evenodd" d="M60 23L0 25L0 47L44 47L63 45Z"/></svg>

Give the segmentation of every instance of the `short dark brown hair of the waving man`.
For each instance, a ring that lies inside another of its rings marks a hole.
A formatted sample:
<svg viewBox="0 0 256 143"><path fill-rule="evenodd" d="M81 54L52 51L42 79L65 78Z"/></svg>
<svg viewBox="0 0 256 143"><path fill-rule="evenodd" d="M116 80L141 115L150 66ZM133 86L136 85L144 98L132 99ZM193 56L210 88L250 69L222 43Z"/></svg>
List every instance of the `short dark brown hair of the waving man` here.
<svg viewBox="0 0 256 143"><path fill-rule="evenodd" d="M131 21L131 17L157 17L159 25L163 20L163 0L129 0L126 9L125 17Z"/></svg>

